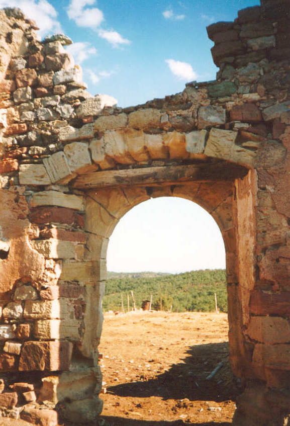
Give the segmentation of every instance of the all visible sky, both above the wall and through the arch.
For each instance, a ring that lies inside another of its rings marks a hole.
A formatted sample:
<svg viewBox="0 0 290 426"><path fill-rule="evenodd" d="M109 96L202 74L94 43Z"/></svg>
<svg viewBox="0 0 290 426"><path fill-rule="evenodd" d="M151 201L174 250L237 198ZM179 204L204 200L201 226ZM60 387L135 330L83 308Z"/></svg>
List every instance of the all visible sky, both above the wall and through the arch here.
<svg viewBox="0 0 290 426"><path fill-rule="evenodd" d="M63 32L92 95L121 107L214 79L206 26L232 21L258 0L0 0L20 7L40 36ZM119 222L108 249L111 271L183 272L224 268L221 233L198 205L177 198L141 203Z"/></svg>

